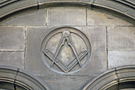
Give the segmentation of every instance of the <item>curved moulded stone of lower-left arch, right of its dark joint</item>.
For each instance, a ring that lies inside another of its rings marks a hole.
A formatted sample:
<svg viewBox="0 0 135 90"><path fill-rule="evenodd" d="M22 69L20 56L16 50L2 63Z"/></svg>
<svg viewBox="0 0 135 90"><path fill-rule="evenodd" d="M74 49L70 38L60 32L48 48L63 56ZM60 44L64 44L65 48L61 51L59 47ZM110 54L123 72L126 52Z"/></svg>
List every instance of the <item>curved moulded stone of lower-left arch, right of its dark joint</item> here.
<svg viewBox="0 0 135 90"><path fill-rule="evenodd" d="M20 86L22 87L22 89L18 88L17 90L28 90L28 89L30 89L30 90L32 90L32 89L50 90L50 89L48 89L48 86L46 85L46 83L42 82L42 80L39 80L37 77L35 77L33 74L31 74L29 72L26 72L21 69L18 70L18 73L16 75L15 84L18 85L18 82L21 83Z"/></svg>

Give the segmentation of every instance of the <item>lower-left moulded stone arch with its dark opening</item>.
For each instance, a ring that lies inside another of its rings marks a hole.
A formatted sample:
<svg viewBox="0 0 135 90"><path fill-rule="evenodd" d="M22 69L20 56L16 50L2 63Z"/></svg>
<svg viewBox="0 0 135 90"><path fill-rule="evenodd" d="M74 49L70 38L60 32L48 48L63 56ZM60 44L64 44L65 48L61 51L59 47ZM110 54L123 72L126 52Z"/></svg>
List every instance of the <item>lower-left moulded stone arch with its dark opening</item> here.
<svg viewBox="0 0 135 90"><path fill-rule="evenodd" d="M0 66L0 83L0 90L49 90L44 82L32 74L7 66Z"/></svg>

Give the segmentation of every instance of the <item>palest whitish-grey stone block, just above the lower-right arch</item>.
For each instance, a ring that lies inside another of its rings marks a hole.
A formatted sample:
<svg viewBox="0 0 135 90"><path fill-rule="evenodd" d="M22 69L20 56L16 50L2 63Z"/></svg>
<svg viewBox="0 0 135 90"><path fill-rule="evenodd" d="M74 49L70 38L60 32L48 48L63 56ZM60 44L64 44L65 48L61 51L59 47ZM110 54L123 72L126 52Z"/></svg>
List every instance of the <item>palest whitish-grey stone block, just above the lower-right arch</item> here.
<svg viewBox="0 0 135 90"><path fill-rule="evenodd" d="M135 51L109 51L108 68L135 64Z"/></svg>

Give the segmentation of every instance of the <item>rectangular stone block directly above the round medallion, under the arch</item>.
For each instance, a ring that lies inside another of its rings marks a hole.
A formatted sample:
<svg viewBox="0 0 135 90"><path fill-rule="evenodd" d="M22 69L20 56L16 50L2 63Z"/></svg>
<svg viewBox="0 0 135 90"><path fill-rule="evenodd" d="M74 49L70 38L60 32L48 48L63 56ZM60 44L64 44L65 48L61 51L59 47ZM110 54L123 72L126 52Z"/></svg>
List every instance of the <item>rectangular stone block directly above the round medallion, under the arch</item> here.
<svg viewBox="0 0 135 90"><path fill-rule="evenodd" d="M47 17L47 25L86 25L85 8L48 8Z"/></svg>

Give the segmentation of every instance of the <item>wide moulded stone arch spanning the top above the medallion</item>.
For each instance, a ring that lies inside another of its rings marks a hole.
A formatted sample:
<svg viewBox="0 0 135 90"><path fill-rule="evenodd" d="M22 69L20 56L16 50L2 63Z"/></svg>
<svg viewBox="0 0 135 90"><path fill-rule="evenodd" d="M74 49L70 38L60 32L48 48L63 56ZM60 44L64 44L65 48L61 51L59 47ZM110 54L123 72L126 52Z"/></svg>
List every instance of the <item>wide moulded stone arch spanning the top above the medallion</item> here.
<svg viewBox="0 0 135 90"><path fill-rule="evenodd" d="M134 0L0 0L0 18L30 7L37 9L56 5L98 6L119 12L135 20Z"/></svg>

